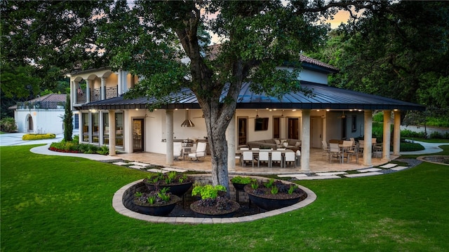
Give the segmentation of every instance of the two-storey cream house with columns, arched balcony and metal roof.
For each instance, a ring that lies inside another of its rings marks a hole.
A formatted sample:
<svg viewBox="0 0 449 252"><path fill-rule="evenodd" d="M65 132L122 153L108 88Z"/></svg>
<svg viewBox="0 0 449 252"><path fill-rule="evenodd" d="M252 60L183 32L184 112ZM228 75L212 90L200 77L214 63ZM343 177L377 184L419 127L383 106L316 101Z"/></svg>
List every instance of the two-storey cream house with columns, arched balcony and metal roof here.
<svg viewBox="0 0 449 252"><path fill-rule="evenodd" d="M302 56L298 77L311 97L289 93L281 99L255 94L244 83L236 113L227 129L229 166L235 165L235 149L261 139L298 139L302 143L302 170L309 171L310 148L321 148L321 141L364 137L366 150L371 146L372 113L384 111L384 128L389 129L391 111L395 114L394 154L399 153L400 111L422 110L424 106L371 94L328 86L328 74L338 69L316 59ZM152 152L167 155L173 164L173 142L193 139L207 141L206 127L199 103L188 89L178 94L179 102L167 104L150 113L151 98L123 99L138 76L108 68L71 73L72 106L79 113L80 141L108 145L114 155ZM114 132L114 134L111 134ZM384 131L384 150L389 150L390 132ZM110 143L114 143L111 145ZM365 151L364 165L370 165L371 148ZM389 160L390 152L382 158Z"/></svg>

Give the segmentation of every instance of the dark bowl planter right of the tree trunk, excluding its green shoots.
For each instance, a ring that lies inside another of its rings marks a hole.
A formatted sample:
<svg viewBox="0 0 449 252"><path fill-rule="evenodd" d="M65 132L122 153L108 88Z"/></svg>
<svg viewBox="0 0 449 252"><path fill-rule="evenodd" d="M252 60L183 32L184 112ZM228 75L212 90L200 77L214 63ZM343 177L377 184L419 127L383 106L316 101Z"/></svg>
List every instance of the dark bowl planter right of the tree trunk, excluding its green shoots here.
<svg viewBox="0 0 449 252"><path fill-rule="evenodd" d="M267 188L261 188L267 189ZM274 209L281 209L283 207L288 207L307 197L304 191L297 189L294 193L278 193L273 195L269 190L254 190L251 185L246 185L245 193L248 194L249 199L260 209L271 211Z"/></svg>

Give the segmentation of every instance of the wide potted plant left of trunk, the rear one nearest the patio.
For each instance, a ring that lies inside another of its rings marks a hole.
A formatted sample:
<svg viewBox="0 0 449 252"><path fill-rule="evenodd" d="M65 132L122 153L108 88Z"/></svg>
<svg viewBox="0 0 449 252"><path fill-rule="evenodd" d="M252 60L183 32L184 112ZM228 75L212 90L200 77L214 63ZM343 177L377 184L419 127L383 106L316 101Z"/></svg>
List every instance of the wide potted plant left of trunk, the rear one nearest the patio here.
<svg viewBox="0 0 449 252"><path fill-rule="evenodd" d="M190 189L193 180L186 174L178 174L177 172L150 173L143 180L148 190L158 190L159 188L170 188L170 193L182 196Z"/></svg>

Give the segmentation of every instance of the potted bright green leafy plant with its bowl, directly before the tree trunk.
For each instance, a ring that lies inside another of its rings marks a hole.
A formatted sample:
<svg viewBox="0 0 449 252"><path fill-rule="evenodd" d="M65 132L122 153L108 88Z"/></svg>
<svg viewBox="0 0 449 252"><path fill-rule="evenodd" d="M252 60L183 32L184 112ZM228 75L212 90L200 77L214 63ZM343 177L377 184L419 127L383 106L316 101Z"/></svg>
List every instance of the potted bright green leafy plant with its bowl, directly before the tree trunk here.
<svg viewBox="0 0 449 252"><path fill-rule="evenodd" d="M195 186L192 196L200 195L201 200L190 204L190 209L197 217L227 218L234 216L240 204L229 200L225 195L226 188L221 185Z"/></svg>

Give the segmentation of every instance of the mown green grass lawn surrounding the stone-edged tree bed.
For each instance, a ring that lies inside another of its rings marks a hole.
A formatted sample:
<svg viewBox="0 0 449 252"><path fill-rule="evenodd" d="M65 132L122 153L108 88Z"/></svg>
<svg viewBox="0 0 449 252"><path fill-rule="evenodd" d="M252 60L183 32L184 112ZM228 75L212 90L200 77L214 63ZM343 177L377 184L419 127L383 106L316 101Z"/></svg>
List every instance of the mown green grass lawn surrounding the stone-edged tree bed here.
<svg viewBox="0 0 449 252"><path fill-rule="evenodd" d="M0 149L1 251L449 250L444 165L301 181L318 196L304 209L250 223L171 225L112 209L116 190L145 172L29 148Z"/></svg>

